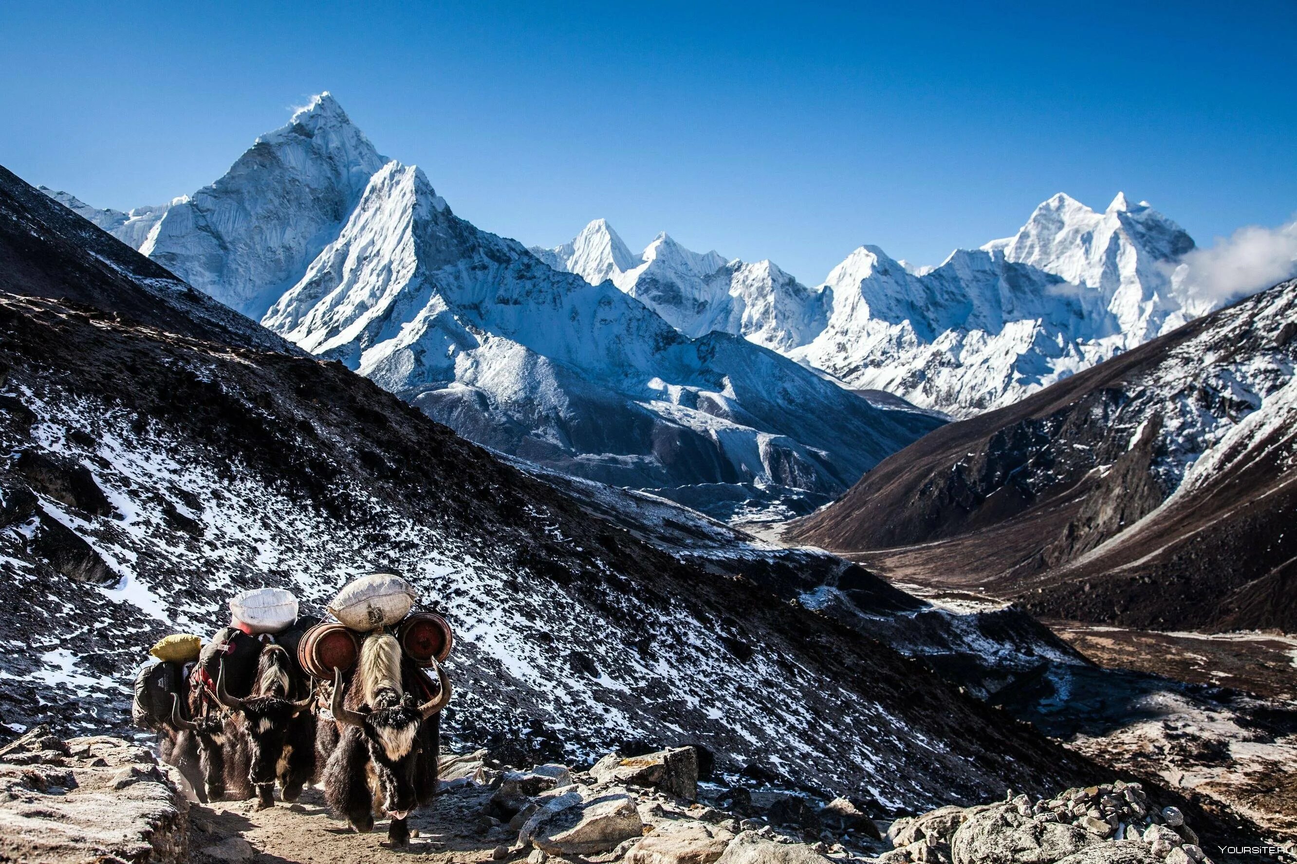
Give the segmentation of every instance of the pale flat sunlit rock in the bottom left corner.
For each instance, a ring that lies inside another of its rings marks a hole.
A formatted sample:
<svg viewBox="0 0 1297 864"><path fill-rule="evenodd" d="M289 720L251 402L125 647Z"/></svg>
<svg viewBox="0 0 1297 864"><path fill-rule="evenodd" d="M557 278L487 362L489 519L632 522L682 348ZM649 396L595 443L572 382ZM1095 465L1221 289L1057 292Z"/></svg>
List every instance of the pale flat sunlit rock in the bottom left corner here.
<svg viewBox="0 0 1297 864"><path fill-rule="evenodd" d="M80 864L188 860L188 803L148 750L29 733L0 749L0 858Z"/></svg>

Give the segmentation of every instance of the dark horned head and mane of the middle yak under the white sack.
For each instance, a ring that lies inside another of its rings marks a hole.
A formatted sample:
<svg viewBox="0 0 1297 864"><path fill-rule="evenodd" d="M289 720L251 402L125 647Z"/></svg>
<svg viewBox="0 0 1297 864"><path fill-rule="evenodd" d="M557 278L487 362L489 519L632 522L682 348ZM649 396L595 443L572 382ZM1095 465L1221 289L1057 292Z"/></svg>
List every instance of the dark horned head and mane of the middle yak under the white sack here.
<svg viewBox="0 0 1297 864"><path fill-rule="evenodd" d="M248 746L248 780L265 788L275 782L288 725L293 718L310 709L314 696L300 702L289 698L292 689L288 652L267 642L257 661L257 681L252 696L237 698L226 692L226 667L222 662L217 676L217 699L230 709ZM268 789L267 789L268 793ZM267 795L262 795L265 804Z"/></svg>

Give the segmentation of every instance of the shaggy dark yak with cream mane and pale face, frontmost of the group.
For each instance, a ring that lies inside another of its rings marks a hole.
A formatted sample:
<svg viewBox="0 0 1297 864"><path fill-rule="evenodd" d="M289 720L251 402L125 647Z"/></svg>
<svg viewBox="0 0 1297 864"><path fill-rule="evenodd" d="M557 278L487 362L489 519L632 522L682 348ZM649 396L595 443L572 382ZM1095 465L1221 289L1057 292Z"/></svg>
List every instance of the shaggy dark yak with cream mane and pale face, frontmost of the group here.
<svg viewBox="0 0 1297 864"><path fill-rule="evenodd" d="M333 674L331 712L340 736L324 766L324 798L353 830L374 829L374 813L390 817L393 848L410 843L406 819L437 790L440 712L450 679L433 665L437 685L402 655L390 633L368 636L351 687Z"/></svg>

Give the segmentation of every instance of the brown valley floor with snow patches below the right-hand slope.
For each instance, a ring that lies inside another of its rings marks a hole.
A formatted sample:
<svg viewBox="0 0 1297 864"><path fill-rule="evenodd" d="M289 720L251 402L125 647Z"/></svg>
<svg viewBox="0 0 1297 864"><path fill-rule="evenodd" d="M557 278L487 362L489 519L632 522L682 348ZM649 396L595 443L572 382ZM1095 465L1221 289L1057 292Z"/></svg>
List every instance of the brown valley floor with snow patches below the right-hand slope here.
<svg viewBox="0 0 1297 864"><path fill-rule="evenodd" d="M760 534L787 544L782 526ZM1004 608L1003 585L961 576L961 552L910 547L844 557L938 606ZM1297 637L1041 623L1095 667L1049 670L992 702L1100 764L1223 803L1275 837L1297 839Z"/></svg>

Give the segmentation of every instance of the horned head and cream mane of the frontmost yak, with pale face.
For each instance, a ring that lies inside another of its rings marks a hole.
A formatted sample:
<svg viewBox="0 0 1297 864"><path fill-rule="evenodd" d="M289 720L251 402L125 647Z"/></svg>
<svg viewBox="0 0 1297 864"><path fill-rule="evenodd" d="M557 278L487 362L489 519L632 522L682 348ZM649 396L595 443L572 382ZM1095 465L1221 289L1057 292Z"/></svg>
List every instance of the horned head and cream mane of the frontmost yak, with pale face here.
<svg viewBox="0 0 1297 864"><path fill-rule="evenodd" d="M333 672L333 719L363 732L383 793L383 808L393 819L405 819L415 807L415 738L419 727L450 701L450 679L440 666L436 668L441 689L420 705L402 687L401 645L396 637L389 633L370 636L361 646L361 662L353 679L368 711L345 706L342 672Z"/></svg>

